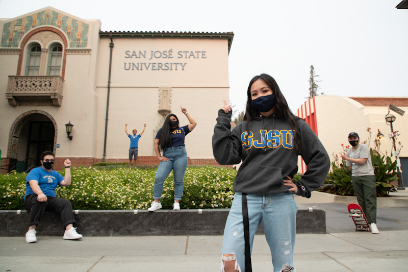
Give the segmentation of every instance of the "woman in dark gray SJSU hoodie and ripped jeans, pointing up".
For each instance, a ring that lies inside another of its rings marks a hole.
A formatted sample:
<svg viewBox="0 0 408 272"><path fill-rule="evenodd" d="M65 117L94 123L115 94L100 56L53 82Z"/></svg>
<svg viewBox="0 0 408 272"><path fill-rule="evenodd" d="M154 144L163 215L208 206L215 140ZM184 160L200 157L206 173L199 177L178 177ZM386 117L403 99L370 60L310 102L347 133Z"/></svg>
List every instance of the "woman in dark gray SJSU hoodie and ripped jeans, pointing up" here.
<svg viewBox="0 0 408 272"><path fill-rule="evenodd" d="M310 197L325 181L330 160L307 123L294 116L275 80L266 74L248 86L244 121L231 131L232 108L224 100L213 135L219 164L242 164L225 224L220 271L250 272L255 232L263 222L275 272L295 271L297 205L293 193ZM307 171L292 182L297 158Z"/></svg>

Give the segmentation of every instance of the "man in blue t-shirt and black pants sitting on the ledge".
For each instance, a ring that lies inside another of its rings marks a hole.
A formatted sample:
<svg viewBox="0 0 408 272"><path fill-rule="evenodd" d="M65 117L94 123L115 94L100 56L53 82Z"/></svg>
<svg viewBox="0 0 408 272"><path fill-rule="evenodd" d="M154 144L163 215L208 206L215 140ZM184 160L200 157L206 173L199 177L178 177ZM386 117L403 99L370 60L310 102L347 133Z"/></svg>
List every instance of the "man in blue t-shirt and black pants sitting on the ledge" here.
<svg viewBox="0 0 408 272"><path fill-rule="evenodd" d="M62 224L65 228L64 239L79 240L82 235L78 234L72 226L77 221L73 216L71 202L60 199L55 195L57 185L71 185L71 162L64 161L65 178L59 172L54 171L54 153L45 151L40 156L41 166L30 171L25 178L24 208L30 212L30 227L25 233L25 242L35 243L35 236L38 223L45 211L52 211L61 214Z"/></svg>

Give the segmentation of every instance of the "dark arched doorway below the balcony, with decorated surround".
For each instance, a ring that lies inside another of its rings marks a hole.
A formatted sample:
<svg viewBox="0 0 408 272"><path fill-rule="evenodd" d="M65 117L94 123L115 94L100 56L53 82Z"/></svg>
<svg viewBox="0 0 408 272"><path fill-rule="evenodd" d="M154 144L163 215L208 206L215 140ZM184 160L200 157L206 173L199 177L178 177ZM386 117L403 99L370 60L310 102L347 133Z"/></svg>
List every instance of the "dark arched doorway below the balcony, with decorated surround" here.
<svg viewBox="0 0 408 272"><path fill-rule="evenodd" d="M21 114L10 128L9 170L22 172L39 166L43 151L55 153L56 141L57 123L51 115L39 110Z"/></svg>

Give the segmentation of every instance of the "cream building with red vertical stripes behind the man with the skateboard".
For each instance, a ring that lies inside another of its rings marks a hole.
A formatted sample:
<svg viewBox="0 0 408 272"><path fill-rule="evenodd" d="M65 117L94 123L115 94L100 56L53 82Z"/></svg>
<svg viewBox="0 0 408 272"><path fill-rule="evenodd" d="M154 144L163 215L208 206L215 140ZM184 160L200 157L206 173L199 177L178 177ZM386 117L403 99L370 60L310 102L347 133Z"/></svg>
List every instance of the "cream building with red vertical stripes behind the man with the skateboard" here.
<svg viewBox="0 0 408 272"><path fill-rule="evenodd" d="M303 118L323 143L330 159L343 151L349 145L347 137L350 132L359 134L361 141L367 141L374 147L374 140L380 133L384 135L380 141L380 152L393 156L393 144L390 123L385 116L389 113L389 105L394 105L402 111L408 111L408 97L345 97L338 95L318 95L310 98L297 110L296 115ZM396 147L400 149L400 162L404 184L408 183L408 116L401 116L390 111L396 119L393 130L399 131L396 136ZM371 129L370 134L367 129ZM401 143L401 145L398 144ZM405 146L400 148L401 146ZM306 167L299 159L299 172Z"/></svg>

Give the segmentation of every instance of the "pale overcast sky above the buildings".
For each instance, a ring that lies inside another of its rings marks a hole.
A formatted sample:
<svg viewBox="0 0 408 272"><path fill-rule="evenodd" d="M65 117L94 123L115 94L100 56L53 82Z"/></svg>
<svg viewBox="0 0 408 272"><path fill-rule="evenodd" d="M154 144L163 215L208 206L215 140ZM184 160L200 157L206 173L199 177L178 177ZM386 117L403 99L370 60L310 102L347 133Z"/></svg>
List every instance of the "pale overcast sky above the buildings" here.
<svg viewBox="0 0 408 272"><path fill-rule="evenodd" d="M100 19L103 31L234 32L232 103L244 110L250 79L265 72L295 112L309 93L311 65L325 94L408 96L408 10L396 9L400 2L0 0L0 18L52 6Z"/></svg>

